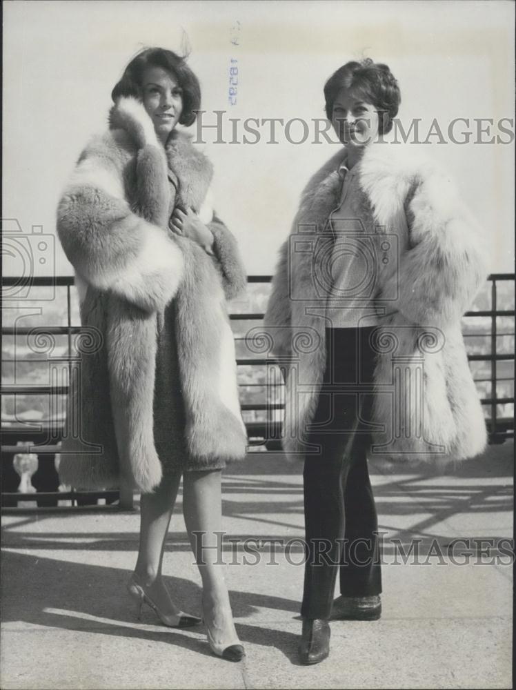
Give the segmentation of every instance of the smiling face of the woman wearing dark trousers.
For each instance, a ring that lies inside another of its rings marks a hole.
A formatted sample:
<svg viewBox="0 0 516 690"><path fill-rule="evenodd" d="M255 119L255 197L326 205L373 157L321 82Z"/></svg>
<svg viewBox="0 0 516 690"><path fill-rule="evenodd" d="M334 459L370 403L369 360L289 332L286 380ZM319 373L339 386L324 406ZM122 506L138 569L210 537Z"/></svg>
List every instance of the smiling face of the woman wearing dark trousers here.
<svg viewBox="0 0 516 690"><path fill-rule="evenodd" d="M368 146L378 135L376 106L342 88L333 103L332 124L342 144Z"/></svg>

